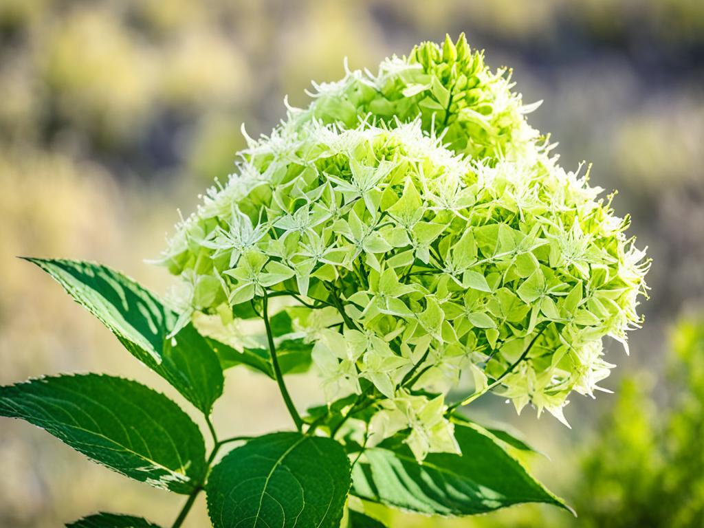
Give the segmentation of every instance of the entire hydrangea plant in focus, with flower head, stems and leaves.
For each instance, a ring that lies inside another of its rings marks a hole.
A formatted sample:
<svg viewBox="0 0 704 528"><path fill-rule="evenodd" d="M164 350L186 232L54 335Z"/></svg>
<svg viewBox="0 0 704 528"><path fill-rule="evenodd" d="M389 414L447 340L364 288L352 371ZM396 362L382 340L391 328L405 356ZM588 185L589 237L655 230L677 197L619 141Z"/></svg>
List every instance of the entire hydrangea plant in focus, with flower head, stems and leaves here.
<svg viewBox="0 0 704 528"><path fill-rule="evenodd" d="M567 508L514 457L526 444L458 409L494 391L567 423L570 392L593 395L612 367L603 337L626 344L639 325L648 261L512 87L464 37L318 85L177 226L170 304L103 266L32 259L203 413L207 458L180 408L124 379L6 387L1 413L187 494L175 527L202 489L215 527L367 526L363 501ZM311 363L325 405L301 415L284 375ZM218 439L210 411L239 364L275 379L294 431ZM472 392L446 401L463 373ZM210 471L231 441L244 445Z"/></svg>

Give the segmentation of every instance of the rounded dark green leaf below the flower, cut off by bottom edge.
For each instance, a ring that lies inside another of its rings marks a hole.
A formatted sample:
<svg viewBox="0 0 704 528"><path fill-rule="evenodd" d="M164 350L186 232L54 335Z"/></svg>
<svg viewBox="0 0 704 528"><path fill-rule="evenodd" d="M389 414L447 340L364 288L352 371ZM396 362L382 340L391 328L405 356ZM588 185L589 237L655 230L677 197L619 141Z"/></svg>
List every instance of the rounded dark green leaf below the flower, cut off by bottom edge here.
<svg viewBox="0 0 704 528"><path fill-rule="evenodd" d="M336 441L268 434L213 468L208 513L215 528L338 528L349 486L347 455Z"/></svg>

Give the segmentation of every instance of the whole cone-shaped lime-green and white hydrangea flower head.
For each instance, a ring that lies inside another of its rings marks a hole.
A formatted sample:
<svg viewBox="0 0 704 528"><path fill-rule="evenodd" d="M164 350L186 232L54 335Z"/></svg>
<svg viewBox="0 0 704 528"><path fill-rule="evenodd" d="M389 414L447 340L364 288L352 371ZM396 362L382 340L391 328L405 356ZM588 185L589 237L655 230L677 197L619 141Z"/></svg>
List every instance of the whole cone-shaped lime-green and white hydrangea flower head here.
<svg viewBox="0 0 704 528"><path fill-rule="evenodd" d="M318 85L170 240L182 324L288 292L327 401L366 383L370 443L410 427L419 459L457 450L463 373L564 422L609 374L603 337L639 325L648 263L512 86L464 37Z"/></svg>

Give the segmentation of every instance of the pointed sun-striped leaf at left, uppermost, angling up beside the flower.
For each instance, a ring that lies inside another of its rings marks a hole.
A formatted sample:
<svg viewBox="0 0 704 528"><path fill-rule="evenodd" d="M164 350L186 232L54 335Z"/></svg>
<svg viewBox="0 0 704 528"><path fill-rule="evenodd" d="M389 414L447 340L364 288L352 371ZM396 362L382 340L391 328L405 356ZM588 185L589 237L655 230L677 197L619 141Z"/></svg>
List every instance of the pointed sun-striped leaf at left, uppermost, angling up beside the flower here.
<svg viewBox="0 0 704 528"><path fill-rule="evenodd" d="M103 265L27 258L56 279L106 325L133 356L172 384L203 413L222 395L222 368L192 325L167 336L177 315L132 279Z"/></svg>

